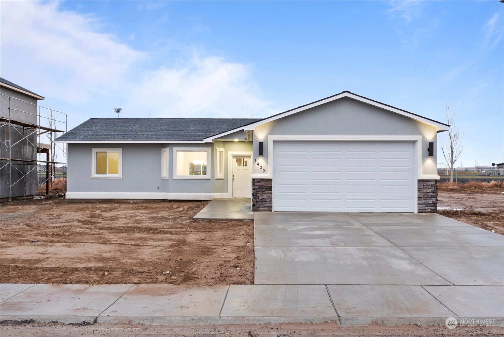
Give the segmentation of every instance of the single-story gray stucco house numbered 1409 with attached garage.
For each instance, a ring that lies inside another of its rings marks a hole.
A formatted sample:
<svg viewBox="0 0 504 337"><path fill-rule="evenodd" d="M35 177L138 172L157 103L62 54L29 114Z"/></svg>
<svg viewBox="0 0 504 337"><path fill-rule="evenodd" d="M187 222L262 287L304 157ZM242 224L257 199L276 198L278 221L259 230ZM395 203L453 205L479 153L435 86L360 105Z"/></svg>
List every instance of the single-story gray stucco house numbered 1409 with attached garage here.
<svg viewBox="0 0 504 337"><path fill-rule="evenodd" d="M261 211L435 212L449 125L344 91L265 119L90 119L72 199L251 197Z"/></svg>

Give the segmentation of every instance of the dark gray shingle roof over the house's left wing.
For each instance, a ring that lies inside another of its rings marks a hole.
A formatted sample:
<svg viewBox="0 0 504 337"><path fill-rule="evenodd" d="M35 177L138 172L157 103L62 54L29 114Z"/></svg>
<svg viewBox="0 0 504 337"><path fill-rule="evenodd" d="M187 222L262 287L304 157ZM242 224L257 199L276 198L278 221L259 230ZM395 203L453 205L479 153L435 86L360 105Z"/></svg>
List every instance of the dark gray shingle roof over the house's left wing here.
<svg viewBox="0 0 504 337"><path fill-rule="evenodd" d="M57 140L203 140L260 121L247 118L91 118Z"/></svg>

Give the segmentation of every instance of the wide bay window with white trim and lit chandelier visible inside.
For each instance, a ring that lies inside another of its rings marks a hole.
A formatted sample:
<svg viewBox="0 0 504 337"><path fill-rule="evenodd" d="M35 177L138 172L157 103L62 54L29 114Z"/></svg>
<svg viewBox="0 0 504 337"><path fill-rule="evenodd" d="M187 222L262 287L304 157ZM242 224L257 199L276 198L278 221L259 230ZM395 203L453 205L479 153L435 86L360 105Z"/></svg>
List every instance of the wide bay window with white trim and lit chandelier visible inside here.
<svg viewBox="0 0 504 337"><path fill-rule="evenodd" d="M174 148L173 178L210 179L209 148Z"/></svg>

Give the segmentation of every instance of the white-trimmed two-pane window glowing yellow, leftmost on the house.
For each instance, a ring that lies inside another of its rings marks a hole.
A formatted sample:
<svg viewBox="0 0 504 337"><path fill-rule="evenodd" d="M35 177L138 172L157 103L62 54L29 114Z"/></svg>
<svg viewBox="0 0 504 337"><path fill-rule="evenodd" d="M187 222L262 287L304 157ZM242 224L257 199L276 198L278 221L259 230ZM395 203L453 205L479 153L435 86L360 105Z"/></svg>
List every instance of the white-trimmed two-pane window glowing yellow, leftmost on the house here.
<svg viewBox="0 0 504 337"><path fill-rule="evenodd" d="M91 153L91 178L122 178L121 148L92 148Z"/></svg>

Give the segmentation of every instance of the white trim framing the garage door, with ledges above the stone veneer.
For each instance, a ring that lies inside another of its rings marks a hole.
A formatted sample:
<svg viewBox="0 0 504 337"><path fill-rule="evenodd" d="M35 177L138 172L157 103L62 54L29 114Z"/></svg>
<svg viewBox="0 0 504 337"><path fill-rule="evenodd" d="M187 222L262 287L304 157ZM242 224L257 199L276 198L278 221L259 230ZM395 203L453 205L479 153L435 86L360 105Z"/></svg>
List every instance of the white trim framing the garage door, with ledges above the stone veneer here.
<svg viewBox="0 0 504 337"><path fill-rule="evenodd" d="M268 155L268 162L264 163L266 172L264 174L253 174L252 178L256 179L273 179L273 170L270 169L269 163L273 163L273 142L275 140L396 140L396 141L414 141L416 151L416 164L418 180L439 180L438 175L424 175L423 174L423 157L422 157L422 136L320 136L320 135L269 135L268 148L266 152ZM260 140L258 140L260 141ZM425 148L425 151L427 149ZM435 166L435 165L434 165ZM273 164L271 165L273 167Z"/></svg>

